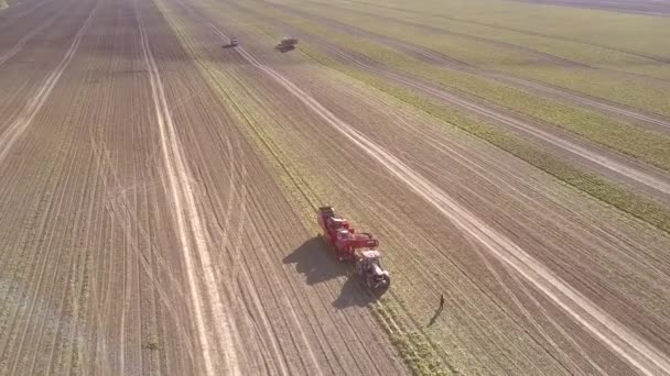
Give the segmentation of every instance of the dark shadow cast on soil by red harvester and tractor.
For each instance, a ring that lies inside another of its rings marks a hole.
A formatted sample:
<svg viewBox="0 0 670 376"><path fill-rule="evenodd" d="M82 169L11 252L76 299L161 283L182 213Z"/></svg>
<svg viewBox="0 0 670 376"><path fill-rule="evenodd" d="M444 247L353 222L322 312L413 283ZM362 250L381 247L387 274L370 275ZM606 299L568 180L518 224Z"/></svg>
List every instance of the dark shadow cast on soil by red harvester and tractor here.
<svg viewBox="0 0 670 376"><path fill-rule="evenodd" d="M376 300L371 294L363 288L354 273L354 267L339 263L333 252L323 243L321 236L304 242L284 257L283 263L295 264L295 269L298 273L305 275L310 286L346 276L347 280L342 286L339 296L333 302L335 308L365 307Z"/></svg>

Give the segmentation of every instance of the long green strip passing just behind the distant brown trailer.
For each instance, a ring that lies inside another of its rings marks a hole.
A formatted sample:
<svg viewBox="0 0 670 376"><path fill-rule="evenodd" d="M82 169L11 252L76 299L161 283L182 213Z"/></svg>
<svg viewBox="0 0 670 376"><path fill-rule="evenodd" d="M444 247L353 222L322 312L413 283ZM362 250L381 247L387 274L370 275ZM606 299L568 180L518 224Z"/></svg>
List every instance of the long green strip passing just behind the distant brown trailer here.
<svg viewBox="0 0 670 376"><path fill-rule="evenodd" d="M667 135L642 130L628 123L616 122L593 111L559 103L475 75L440 69L395 49L367 40L352 37L352 35L321 26L315 22L288 12L269 7L266 7L262 11L241 5L240 9L246 9L251 14L261 13L281 20L283 23L310 35L354 51L389 68L424 78L431 82L437 82L446 88L482 98L515 112L554 124L597 144L670 170L670 137ZM227 9L227 11L234 12L233 9ZM237 14L245 16L241 13Z"/></svg>

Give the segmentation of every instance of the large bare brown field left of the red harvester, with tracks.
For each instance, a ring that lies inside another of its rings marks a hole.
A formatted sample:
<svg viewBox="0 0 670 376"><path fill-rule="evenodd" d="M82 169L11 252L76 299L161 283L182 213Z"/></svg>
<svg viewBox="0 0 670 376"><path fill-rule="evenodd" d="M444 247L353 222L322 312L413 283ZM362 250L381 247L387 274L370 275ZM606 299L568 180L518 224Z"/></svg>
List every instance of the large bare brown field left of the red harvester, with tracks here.
<svg viewBox="0 0 670 376"><path fill-rule="evenodd" d="M156 8L48 7L0 49L0 373L403 373Z"/></svg>

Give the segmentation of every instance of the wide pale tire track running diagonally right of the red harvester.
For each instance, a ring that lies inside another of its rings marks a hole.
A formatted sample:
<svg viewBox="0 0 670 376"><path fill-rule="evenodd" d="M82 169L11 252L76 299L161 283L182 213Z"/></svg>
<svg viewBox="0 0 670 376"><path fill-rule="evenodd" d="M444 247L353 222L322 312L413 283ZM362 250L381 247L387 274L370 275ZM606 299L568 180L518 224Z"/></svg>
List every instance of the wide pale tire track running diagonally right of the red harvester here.
<svg viewBox="0 0 670 376"><path fill-rule="evenodd" d="M214 24L210 24L223 40L229 40ZM614 318L602 311L591 300L574 290L562 279L553 275L545 266L531 257L507 236L489 228L466 208L458 204L452 197L426 180L421 175L407 167L398 158L364 136L349 124L339 120L310 95L289 81L285 77L258 62L244 48L236 51L260 71L280 84L303 104L318 114L323 120L346 136L366 154L378 161L397 178L406 183L415 193L435 207L452 223L463 232L482 243L499 261L514 268L527 281L553 300L575 321L607 344L615 353L625 358L640 372L653 375L670 374L670 361L667 356L639 339L635 333L623 327Z"/></svg>

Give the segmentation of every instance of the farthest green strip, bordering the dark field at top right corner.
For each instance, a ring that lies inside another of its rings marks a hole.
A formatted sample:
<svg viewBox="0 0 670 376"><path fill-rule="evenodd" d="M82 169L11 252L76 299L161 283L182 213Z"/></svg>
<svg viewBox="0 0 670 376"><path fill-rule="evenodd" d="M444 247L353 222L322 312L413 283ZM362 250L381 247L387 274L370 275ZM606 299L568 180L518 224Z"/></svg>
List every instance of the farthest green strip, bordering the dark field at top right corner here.
<svg viewBox="0 0 670 376"><path fill-rule="evenodd" d="M327 0L311 2L331 3ZM305 1L291 3L302 5ZM584 49L587 46L601 46L612 53L628 51L670 58L670 49L662 48L670 38L668 20L663 16L496 0L419 0L411 3L403 0L356 0L339 2L338 5L402 19L432 20L431 23L441 20L444 26L457 30L480 25L482 29L473 31L508 42L514 42L514 37L520 34L544 36L544 45L551 49L555 48L547 43L573 41L582 44ZM496 36L494 31L500 34ZM507 33L514 31L517 33ZM542 48L541 45L538 47ZM583 51L583 54L588 53Z"/></svg>

